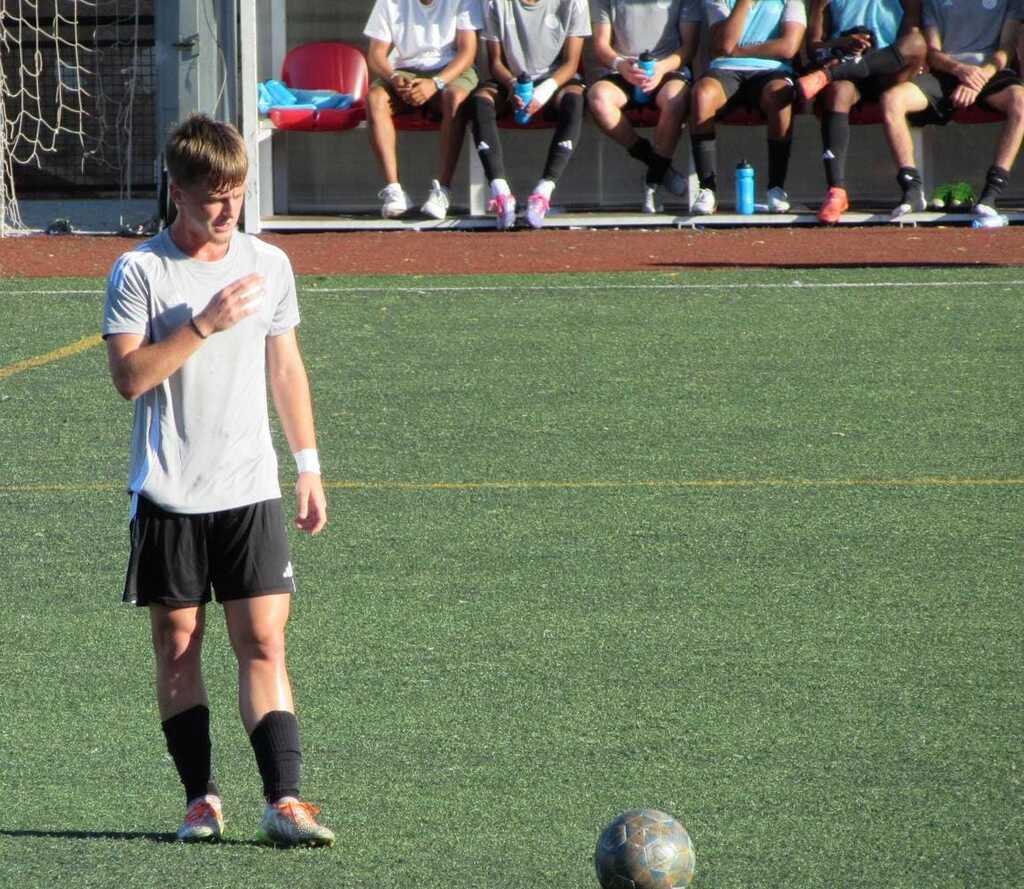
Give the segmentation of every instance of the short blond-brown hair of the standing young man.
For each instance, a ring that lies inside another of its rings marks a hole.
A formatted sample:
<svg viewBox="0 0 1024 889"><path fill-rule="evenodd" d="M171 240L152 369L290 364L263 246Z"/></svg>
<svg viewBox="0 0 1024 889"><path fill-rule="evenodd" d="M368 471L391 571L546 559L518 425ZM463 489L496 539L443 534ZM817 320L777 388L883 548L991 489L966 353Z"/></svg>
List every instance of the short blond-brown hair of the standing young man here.
<svg viewBox="0 0 1024 889"><path fill-rule="evenodd" d="M165 158L172 182L205 185L214 194L245 184L249 172L242 134L231 124L203 114L189 115L175 127Z"/></svg>

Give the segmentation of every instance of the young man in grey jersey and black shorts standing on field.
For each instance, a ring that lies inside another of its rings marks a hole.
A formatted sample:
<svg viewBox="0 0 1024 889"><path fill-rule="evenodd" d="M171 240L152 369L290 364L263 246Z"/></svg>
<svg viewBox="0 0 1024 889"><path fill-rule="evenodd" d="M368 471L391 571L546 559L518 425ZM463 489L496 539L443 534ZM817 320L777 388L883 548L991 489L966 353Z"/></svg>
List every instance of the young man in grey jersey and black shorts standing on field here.
<svg viewBox="0 0 1024 889"><path fill-rule="evenodd" d="M157 702L184 785L184 841L219 839L201 667L206 604L223 605L239 707L263 779L261 837L330 845L299 800L301 745L285 666L295 591L266 381L295 455L296 525L327 522L288 257L237 230L248 170L238 130L195 115L166 149L172 225L125 253L102 333L114 385L135 403L125 600L147 606Z"/></svg>

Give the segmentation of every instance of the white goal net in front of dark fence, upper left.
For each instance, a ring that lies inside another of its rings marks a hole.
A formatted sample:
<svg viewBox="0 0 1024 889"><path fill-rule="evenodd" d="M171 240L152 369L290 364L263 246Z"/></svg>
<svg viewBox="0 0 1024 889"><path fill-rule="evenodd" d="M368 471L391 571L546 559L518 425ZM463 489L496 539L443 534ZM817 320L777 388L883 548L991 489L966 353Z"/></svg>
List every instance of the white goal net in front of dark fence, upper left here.
<svg viewBox="0 0 1024 889"><path fill-rule="evenodd" d="M0 236L18 196L155 194L157 0L0 0Z"/></svg>

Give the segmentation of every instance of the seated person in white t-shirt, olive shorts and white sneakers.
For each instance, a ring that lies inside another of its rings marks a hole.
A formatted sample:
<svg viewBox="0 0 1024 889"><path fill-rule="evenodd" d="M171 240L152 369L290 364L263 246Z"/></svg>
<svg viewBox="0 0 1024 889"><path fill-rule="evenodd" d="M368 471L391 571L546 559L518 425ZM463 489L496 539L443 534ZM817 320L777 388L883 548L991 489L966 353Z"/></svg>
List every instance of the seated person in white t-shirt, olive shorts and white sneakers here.
<svg viewBox="0 0 1024 889"><path fill-rule="evenodd" d="M374 81L367 95L370 143L384 173L380 193L386 219L409 210L398 181L392 115L427 111L440 120L440 171L421 208L434 219L447 215L449 187L462 151L462 104L477 84L476 32L483 25L480 0L377 0L364 34Z"/></svg>

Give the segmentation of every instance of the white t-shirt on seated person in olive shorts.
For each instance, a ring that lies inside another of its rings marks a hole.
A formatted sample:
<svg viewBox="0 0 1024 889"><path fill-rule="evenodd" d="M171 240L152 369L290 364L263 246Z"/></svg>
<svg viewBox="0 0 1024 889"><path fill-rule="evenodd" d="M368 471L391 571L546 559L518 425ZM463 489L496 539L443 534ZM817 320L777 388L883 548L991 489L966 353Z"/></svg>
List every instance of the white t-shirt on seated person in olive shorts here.
<svg viewBox="0 0 1024 889"><path fill-rule="evenodd" d="M392 44L393 68L436 71L455 58L456 32L481 28L480 0L377 0L362 33Z"/></svg>

